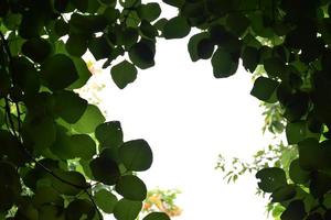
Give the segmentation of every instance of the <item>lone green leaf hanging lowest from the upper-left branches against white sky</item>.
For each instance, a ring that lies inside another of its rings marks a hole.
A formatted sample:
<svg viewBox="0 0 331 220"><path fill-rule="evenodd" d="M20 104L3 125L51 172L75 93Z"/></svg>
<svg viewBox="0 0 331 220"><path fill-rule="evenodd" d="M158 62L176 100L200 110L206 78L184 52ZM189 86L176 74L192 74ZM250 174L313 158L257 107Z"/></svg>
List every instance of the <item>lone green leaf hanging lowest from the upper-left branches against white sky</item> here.
<svg viewBox="0 0 331 220"><path fill-rule="evenodd" d="M137 78L137 68L134 64L124 61L111 67L111 78L118 88L124 89Z"/></svg>

